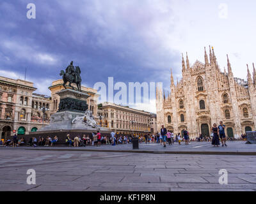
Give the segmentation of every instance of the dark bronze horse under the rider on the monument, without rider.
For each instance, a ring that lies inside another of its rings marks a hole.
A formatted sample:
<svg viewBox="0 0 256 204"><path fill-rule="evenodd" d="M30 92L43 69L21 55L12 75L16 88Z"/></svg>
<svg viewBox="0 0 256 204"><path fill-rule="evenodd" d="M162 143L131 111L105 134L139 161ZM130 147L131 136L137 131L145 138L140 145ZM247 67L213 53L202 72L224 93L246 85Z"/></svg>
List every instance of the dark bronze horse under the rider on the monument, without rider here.
<svg viewBox="0 0 256 204"><path fill-rule="evenodd" d="M68 74L68 73L65 73L65 71L61 70L60 71L60 76L63 76L63 87L65 89L67 89L66 87L66 84L67 82L69 82L68 86L72 87L72 83L76 84L77 86L77 91L81 91L81 77L80 77L80 74L81 74L81 70L79 68L79 66L76 66L76 71L74 71L73 74ZM72 89L74 90L74 87L72 87Z"/></svg>

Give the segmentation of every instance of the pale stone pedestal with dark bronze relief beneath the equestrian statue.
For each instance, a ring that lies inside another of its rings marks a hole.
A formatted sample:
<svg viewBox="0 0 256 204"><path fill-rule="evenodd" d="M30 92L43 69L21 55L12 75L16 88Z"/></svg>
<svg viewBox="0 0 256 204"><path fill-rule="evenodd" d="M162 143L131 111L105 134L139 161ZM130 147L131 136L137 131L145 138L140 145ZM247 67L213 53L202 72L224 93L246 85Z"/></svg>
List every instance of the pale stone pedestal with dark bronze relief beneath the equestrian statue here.
<svg viewBox="0 0 256 204"><path fill-rule="evenodd" d="M51 115L51 122L48 126L41 128L30 135L52 135L52 133L110 133L108 129L92 127L88 121L84 122L86 112L88 113L87 98L90 96L83 92L65 89L57 93L60 96L58 112ZM89 112L90 113L90 112ZM88 117L88 115L87 115ZM89 119L89 118L88 118ZM67 135L63 135L67 136Z"/></svg>

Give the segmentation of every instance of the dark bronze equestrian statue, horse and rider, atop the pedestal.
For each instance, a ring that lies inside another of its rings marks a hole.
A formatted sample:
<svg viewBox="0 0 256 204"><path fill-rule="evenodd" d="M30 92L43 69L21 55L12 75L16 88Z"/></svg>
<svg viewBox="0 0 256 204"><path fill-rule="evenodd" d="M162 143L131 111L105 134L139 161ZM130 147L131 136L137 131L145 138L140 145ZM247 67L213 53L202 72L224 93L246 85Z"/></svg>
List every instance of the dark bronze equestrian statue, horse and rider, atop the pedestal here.
<svg viewBox="0 0 256 204"><path fill-rule="evenodd" d="M81 91L81 69L79 66L76 66L76 69L73 66L73 61L70 62L70 65L67 66L66 70L60 71L60 76L63 76L63 86L65 89L67 89L66 84L69 82L68 86L72 87L72 83L76 84L77 86L77 91ZM74 89L74 87L72 87Z"/></svg>

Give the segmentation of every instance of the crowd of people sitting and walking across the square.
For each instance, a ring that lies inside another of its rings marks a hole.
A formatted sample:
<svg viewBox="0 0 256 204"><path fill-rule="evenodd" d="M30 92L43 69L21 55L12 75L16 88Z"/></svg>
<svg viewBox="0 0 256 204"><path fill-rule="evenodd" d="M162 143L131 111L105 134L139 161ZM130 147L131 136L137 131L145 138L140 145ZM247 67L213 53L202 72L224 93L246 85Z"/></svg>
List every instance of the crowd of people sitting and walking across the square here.
<svg viewBox="0 0 256 204"><path fill-rule="evenodd" d="M222 143L222 147L227 147L227 138L225 135L225 125L222 121L220 121L220 125L217 126L216 123L213 124L211 128L212 134L211 136L203 136L202 134L198 136L198 138L189 138L189 132L185 129L183 134L173 134L170 130L167 130L162 126L161 131L157 132L157 134L147 134L144 136L141 135L133 135L134 137L138 138L139 143L160 143L163 147L166 147L166 144L173 145L175 142L181 145L182 142L185 142L185 145L189 145L190 142L211 142L213 147L218 147L220 145L220 141ZM241 140L246 140L246 134L241 135ZM5 147L18 147L21 145L28 145L28 146L44 146L49 147L56 145L59 139L58 136L39 136L38 139L36 138L29 138L28 142L24 140L24 137L20 137L18 139L17 135L14 135L12 140L0 140L0 146ZM75 136L74 139L67 135L65 139L65 143L68 146L74 147L86 147L86 145L93 145L99 147L100 145L118 145L118 144L127 144L132 143L132 136L131 135L120 135L112 131L110 135L101 135L99 131L97 133L92 133L90 136L89 134L83 136Z"/></svg>

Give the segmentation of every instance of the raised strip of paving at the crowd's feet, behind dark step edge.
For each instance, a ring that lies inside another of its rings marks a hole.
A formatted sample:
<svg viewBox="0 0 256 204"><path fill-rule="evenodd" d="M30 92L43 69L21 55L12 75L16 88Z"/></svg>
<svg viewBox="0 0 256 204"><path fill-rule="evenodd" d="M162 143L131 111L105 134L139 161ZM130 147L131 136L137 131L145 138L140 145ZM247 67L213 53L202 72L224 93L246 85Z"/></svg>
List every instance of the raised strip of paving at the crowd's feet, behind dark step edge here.
<svg viewBox="0 0 256 204"><path fill-rule="evenodd" d="M227 142L228 147L212 147L209 142L191 142L190 145L167 145L166 148L159 143L140 143L140 149L133 150L132 144L102 145L100 147L19 147L31 150L68 150L81 152L132 152L151 154L207 154L207 155L251 155L256 156L256 145L248 145L242 141ZM1 148L4 149L4 148ZM70 157L67 155L65 157ZM1 163L1 161L0 161Z"/></svg>

